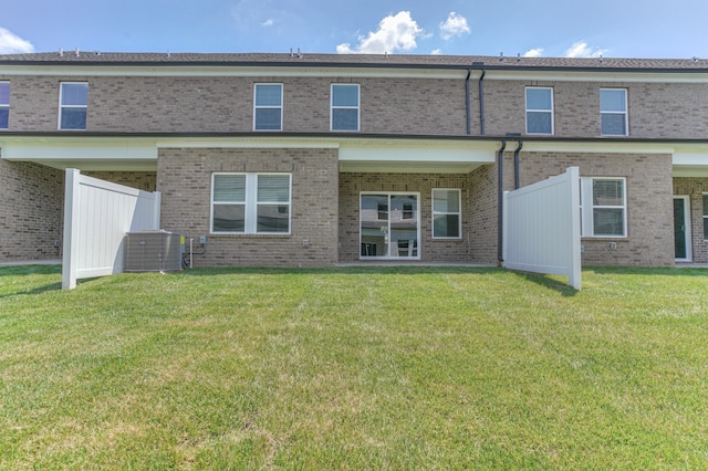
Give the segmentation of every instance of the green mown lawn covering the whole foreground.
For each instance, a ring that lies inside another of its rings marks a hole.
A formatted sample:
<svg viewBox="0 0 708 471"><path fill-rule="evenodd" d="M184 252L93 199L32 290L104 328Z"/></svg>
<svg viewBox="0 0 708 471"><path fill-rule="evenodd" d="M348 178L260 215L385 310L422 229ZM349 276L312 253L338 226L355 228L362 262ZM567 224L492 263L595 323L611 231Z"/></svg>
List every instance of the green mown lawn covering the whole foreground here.
<svg viewBox="0 0 708 471"><path fill-rule="evenodd" d="M705 469L708 271L0 269L0 469Z"/></svg>

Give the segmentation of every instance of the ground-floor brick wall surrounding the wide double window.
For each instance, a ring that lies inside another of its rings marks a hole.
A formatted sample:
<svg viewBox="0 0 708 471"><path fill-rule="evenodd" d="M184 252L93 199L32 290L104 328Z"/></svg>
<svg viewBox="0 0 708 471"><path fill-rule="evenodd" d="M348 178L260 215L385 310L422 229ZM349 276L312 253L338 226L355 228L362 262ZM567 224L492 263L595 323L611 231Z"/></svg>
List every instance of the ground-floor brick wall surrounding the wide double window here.
<svg viewBox="0 0 708 471"><path fill-rule="evenodd" d="M157 168L163 228L195 238L195 243L199 236L207 236L206 253L195 257L195 266L336 263L336 150L162 148ZM217 171L292 172L291 234L210 234L211 175Z"/></svg>

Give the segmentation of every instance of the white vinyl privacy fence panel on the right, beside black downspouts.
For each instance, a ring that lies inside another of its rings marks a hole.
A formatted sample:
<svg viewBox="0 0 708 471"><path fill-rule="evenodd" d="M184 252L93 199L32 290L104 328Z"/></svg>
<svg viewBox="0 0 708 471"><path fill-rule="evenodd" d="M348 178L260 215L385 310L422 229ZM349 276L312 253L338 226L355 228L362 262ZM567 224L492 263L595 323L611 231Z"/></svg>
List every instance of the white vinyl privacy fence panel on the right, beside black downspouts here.
<svg viewBox="0 0 708 471"><path fill-rule="evenodd" d="M503 266L565 275L581 289L580 171L504 192Z"/></svg>

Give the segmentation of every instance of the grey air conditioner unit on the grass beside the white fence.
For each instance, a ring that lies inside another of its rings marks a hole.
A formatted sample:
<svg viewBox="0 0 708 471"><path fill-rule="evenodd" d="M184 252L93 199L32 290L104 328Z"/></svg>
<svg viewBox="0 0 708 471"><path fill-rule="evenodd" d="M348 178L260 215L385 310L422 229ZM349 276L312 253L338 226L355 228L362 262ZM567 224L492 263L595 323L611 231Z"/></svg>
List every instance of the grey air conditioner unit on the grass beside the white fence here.
<svg viewBox="0 0 708 471"><path fill-rule="evenodd" d="M181 270L185 239L168 231L128 232L125 243L126 272Z"/></svg>

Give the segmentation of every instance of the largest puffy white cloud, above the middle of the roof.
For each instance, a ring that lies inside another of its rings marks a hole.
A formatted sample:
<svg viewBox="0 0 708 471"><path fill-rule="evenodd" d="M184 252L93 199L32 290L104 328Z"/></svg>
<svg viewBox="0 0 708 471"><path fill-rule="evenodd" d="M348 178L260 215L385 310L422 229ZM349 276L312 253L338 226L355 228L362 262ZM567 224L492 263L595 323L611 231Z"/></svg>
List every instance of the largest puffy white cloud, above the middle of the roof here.
<svg viewBox="0 0 708 471"><path fill-rule="evenodd" d="M418 23L410 18L409 11L399 11L381 20L378 30L366 36L358 36L358 45L352 49L350 43L339 44L339 54L383 54L396 51L410 51L417 48L416 38L424 34Z"/></svg>

